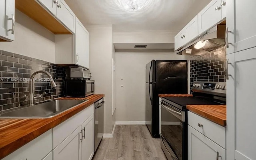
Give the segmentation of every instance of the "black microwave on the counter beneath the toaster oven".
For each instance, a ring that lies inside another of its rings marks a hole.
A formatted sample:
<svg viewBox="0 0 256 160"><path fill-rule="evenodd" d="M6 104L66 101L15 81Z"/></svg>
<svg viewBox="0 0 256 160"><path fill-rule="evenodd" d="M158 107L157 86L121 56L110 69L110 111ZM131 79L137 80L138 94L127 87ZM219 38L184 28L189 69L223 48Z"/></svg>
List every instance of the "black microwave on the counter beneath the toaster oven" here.
<svg viewBox="0 0 256 160"><path fill-rule="evenodd" d="M65 80L66 97L86 97L94 94L94 80Z"/></svg>

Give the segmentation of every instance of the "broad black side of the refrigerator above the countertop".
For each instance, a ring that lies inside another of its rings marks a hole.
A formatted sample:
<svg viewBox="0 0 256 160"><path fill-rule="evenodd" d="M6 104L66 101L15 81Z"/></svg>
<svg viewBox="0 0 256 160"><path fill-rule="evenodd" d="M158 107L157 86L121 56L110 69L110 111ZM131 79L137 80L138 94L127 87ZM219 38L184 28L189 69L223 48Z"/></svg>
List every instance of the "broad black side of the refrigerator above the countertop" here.
<svg viewBox="0 0 256 160"><path fill-rule="evenodd" d="M186 60L156 61L156 92L158 94L187 94Z"/></svg>

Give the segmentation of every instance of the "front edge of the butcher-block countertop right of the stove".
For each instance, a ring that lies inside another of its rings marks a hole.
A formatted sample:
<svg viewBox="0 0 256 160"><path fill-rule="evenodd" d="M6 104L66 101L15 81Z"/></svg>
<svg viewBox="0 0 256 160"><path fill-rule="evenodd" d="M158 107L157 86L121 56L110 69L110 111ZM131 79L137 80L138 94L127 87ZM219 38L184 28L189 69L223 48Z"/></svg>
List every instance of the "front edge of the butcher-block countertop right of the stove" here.
<svg viewBox="0 0 256 160"><path fill-rule="evenodd" d="M209 113L206 113L206 112L204 112L202 110L199 110L197 108L193 108L191 105L187 105L186 107L187 107L187 109L189 111L191 111L191 112L193 112L195 114L198 114L198 115L200 115L200 116L202 116L202 117L204 117L204 118L206 118L208 120L211 120L212 122L215 122L215 123L217 123L217 124L219 124L221 126L226 126L227 120L225 120L225 119L222 119L222 118L220 118L218 116L214 116L214 115L209 114Z"/></svg>

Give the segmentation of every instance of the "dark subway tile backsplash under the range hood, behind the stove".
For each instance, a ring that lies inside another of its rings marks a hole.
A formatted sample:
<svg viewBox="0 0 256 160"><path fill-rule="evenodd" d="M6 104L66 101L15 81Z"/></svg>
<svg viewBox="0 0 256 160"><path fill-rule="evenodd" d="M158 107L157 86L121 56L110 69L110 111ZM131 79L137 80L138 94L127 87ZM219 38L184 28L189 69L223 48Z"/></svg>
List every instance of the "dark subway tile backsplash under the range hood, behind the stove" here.
<svg viewBox="0 0 256 160"><path fill-rule="evenodd" d="M190 93L195 81L226 82L226 47L190 58Z"/></svg>

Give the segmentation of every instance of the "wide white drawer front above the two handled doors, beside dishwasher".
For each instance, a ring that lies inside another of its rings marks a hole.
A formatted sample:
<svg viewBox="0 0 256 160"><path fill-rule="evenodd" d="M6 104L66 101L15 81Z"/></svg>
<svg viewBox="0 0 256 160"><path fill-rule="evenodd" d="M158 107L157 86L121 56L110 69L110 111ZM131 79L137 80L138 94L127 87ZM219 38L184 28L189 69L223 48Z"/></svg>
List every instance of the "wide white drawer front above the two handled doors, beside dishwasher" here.
<svg viewBox="0 0 256 160"><path fill-rule="evenodd" d="M85 108L78 114L52 128L53 148L56 148L64 139L66 139L76 128L86 121L94 113L94 104Z"/></svg>

